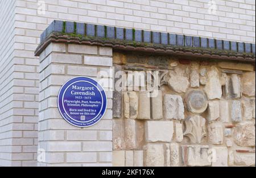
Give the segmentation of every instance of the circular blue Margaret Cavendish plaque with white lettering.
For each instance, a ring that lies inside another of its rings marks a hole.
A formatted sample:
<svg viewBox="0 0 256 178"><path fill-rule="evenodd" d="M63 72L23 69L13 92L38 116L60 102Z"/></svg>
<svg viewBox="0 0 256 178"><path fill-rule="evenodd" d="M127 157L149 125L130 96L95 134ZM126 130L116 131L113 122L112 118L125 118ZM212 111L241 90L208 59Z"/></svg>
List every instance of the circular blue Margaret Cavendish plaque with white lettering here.
<svg viewBox="0 0 256 178"><path fill-rule="evenodd" d="M57 104L60 114L68 123L89 127L105 114L107 98L97 81L89 77L75 77L61 87Z"/></svg>

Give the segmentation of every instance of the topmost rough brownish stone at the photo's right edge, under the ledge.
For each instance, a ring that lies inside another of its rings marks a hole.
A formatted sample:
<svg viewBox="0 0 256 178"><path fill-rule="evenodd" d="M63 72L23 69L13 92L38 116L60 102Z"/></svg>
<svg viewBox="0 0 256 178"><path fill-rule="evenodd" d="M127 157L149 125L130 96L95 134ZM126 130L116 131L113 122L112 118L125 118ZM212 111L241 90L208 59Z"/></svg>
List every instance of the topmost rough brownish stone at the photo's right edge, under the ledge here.
<svg viewBox="0 0 256 178"><path fill-rule="evenodd" d="M255 96L255 71L243 73L242 93L249 97Z"/></svg>

